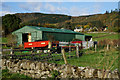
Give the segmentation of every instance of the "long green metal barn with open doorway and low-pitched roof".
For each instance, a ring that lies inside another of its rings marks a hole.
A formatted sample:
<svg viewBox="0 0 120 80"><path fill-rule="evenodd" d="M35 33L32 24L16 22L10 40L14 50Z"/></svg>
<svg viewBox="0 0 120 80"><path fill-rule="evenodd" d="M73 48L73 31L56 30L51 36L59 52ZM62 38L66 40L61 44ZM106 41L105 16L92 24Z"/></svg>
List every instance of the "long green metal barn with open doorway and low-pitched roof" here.
<svg viewBox="0 0 120 80"><path fill-rule="evenodd" d="M24 26L23 28L14 31L12 34L17 36L18 45L23 44L24 42L34 41L54 40L69 42L73 39L85 41L92 38L92 36L68 29L55 29L38 26Z"/></svg>

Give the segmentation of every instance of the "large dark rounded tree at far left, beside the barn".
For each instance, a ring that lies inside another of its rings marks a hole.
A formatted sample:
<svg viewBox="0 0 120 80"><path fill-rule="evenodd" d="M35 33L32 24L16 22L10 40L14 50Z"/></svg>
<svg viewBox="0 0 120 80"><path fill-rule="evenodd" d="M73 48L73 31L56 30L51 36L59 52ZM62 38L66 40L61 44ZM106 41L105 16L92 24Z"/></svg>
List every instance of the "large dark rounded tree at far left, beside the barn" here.
<svg viewBox="0 0 120 80"><path fill-rule="evenodd" d="M7 14L2 17L2 26L5 31L5 35L19 28L21 19L15 15Z"/></svg>

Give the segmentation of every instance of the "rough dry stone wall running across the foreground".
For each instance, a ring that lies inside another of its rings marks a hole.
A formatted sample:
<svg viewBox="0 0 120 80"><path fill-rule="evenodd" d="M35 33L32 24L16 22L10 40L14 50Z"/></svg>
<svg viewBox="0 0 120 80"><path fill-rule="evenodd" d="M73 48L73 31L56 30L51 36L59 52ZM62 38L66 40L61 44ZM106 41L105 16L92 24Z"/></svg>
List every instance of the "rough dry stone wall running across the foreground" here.
<svg viewBox="0 0 120 80"><path fill-rule="evenodd" d="M3 59L3 67L7 67L10 72L25 74L32 78L52 77L51 72L56 70L60 72L57 78L117 78L119 79L118 70L93 69L90 67L76 67L68 64L58 65L54 63L38 62L30 60ZM106 73L106 74L105 74Z"/></svg>

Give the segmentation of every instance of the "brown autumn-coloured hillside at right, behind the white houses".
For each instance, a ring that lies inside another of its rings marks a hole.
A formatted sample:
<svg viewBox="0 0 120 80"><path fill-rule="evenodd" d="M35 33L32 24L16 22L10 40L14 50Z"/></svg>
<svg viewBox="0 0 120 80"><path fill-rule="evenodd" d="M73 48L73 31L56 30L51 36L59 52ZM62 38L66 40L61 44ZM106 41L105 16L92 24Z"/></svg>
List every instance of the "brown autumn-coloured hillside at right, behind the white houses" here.
<svg viewBox="0 0 120 80"><path fill-rule="evenodd" d="M88 15L88 16L79 16L79 17L71 17L71 20L57 23L57 26L65 26L70 25L72 29L75 28L76 25L87 25L91 23L92 26L101 28L103 26L108 26L110 30L115 29L118 27L118 13L109 13L109 14L96 14L96 15Z"/></svg>

